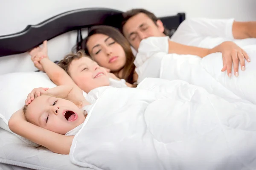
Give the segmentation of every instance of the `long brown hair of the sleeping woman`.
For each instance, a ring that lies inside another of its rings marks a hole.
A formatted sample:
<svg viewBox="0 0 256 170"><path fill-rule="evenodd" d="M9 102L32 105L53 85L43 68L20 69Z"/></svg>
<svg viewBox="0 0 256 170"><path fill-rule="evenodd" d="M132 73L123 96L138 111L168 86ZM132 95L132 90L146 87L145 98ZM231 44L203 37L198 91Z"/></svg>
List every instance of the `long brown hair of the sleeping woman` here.
<svg viewBox="0 0 256 170"><path fill-rule="evenodd" d="M90 32L88 33L88 36L83 40L81 43L82 49L85 51L85 53L90 56L88 48L87 48L87 42L89 38L94 34L104 34L107 35L113 40L115 40L118 44L122 46L122 48L125 51L125 57L126 57L126 63L125 66L122 68L122 77L119 77L120 79L125 79L126 82L133 84L135 81L133 79L134 75L134 55L131 51L131 47L129 42L125 39L125 37L121 34L121 32L114 27L111 26L94 26L91 28Z"/></svg>

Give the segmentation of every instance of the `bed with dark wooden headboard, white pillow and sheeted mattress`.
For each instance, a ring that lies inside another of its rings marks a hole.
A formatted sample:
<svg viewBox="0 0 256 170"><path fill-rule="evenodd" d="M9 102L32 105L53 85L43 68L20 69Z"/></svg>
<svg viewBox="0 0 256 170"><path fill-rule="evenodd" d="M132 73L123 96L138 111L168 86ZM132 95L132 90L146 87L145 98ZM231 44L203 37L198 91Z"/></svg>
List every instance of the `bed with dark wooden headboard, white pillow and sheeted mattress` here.
<svg viewBox="0 0 256 170"><path fill-rule="evenodd" d="M52 153L44 147L30 146L20 136L11 133L7 123L11 114L23 106L26 95L33 88L55 86L45 73L35 72L26 51L40 45L44 40L52 40L70 31L76 33L76 43L73 45L79 46L84 29L90 30L95 25L119 28L121 19L122 11L115 9L82 8L58 14L37 25L29 25L20 32L0 36L0 169L84 169L72 164L68 155ZM172 36L185 20L185 14L178 13L160 19L170 30L169 36ZM53 59L59 60L62 57L58 55Z"/></svg>

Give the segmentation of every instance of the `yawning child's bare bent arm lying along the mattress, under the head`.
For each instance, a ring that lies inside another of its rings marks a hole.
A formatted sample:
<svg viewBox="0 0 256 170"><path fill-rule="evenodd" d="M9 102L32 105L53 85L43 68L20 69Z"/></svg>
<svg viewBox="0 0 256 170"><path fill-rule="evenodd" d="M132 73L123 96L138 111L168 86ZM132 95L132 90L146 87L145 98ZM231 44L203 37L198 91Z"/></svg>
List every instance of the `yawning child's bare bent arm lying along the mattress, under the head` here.
<svg viewBox="0 0 256 170"><path fill-rule="evenodd" d="M69 154L74 137L64 136L27 122L22 109L12 115L9 120L9 128L17 135L59 154Z"/></svg>

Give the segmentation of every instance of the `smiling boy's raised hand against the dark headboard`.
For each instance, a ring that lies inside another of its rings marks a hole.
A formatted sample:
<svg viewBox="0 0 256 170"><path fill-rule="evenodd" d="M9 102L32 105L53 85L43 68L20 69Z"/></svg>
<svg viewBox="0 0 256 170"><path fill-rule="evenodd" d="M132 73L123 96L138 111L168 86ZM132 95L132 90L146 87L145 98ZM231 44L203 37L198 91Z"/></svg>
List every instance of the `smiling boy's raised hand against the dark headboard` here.
<svg viewBox="0 0 256 170"><path fill-rule="evenodd" d="M44 71L44 68L40 64L40 61L43 58L48 58L47 53L47 41L43 42L42 48L36 47L29 52L32 62L34 62L35 67L38 68L40 71Z"/></svg>

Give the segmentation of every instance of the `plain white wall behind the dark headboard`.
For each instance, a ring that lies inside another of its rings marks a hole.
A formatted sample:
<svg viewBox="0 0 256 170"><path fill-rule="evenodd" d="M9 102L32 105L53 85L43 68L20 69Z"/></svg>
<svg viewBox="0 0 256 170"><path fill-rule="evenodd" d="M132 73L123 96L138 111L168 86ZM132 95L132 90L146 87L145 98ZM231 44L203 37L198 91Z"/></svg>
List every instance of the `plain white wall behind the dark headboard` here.
<svg viewBox="0 0 256 170"><path fill-rule="evenodd" d="M0 0L0 35L23 30L56 14L89 7L106 7L126 11L145 8L158 17L185 12L187 18L234 17L239 21L256 20L256 0ZM76 42L76 32L49 41L49 56L61 59ZM27 54L1 57L0 74L15 71L33 71ZM4 64L3 64L4 63ZM9 64L11 63L11 64ZM8 66L8 68L6 68Z"/></svg>

